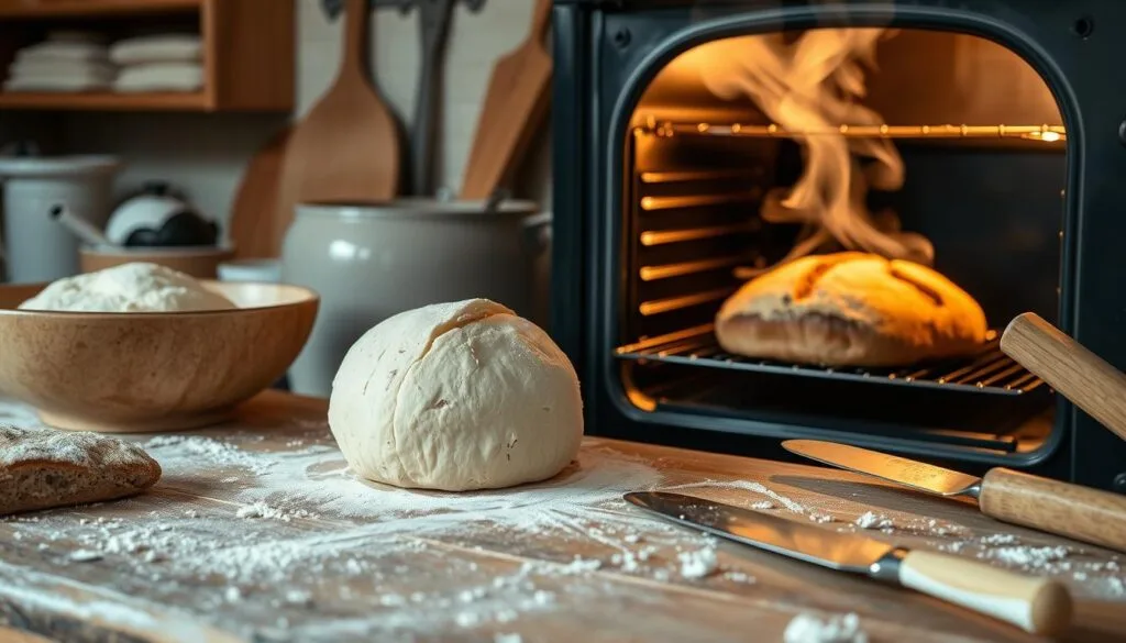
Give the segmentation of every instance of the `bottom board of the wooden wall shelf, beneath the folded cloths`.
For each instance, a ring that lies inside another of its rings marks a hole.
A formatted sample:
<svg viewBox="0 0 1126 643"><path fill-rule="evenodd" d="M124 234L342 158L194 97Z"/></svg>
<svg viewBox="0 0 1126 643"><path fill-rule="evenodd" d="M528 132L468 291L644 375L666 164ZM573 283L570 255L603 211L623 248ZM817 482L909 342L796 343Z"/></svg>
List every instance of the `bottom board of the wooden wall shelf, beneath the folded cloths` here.
<svg viewBox="0 0 1126 643"><path fill-rule="evenodd" d="M207 96L194 93L0 92L0 109L100 111L208 111Z"/></svg>

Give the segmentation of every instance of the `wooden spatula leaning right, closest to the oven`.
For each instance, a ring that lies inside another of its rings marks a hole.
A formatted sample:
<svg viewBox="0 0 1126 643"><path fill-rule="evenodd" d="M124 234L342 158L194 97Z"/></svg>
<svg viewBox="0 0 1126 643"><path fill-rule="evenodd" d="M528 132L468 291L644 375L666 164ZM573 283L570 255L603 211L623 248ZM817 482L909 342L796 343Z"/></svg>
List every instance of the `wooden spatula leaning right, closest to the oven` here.
<svg viewBox="0 0 1126 643"><path fill-rule="evenodd" d="M552 0L538 0L531 30L493 66L465 167L462 198L482 199L509 178L547 115L552 57L544 50Z"/></svg>

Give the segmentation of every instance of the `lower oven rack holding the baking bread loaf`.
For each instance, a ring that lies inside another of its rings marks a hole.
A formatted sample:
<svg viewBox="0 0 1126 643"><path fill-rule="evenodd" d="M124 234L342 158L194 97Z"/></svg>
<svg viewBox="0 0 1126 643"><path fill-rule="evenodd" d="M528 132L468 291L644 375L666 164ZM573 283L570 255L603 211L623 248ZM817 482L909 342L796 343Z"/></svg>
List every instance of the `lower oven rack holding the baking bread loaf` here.
<svg viewBox="0 0 1126 643"><path fill-rule="evenodd" d="M976 355L905 368L833 368L753 359L725 352L713 331L714 324L708 323L643 339L618 347L615 349L615 357L640 363L680 364L1006 396L1021 395L1044 384L1043 379L1001 351L994 331L990 332L989 342Z"/></svg>

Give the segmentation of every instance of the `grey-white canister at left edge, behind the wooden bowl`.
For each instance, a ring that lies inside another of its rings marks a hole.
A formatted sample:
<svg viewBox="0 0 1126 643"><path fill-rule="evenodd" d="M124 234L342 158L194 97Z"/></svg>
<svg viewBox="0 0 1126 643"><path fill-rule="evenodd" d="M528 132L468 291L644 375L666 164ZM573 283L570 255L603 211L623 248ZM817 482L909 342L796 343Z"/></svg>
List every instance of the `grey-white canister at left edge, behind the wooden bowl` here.
<svg viewBox="0 0 1126 643"><path fill-rule="evenodd" d="M113 209L114 157L0 158L6 280L52 282L79 271L79 241L48 216L52 206L70 211L99 230Z"/></svg>

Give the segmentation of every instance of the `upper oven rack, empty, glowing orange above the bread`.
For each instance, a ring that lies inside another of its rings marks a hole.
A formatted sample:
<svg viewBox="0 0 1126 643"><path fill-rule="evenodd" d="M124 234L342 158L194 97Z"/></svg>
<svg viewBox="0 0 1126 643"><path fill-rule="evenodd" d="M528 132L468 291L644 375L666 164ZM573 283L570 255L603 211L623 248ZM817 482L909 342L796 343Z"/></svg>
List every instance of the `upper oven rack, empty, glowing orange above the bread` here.
<svg viewBox="0 0 1126 643"><path fill-rule="evenodd" d="M751 139L793 139L797 136L844 136L856 139L1025 139L1056 143L1067 140L1063 125L848 125L824 130L790 131L777 124L697 123L658 120L649 117L634 128L635 134L656 136L743 136Z"/></svg>

